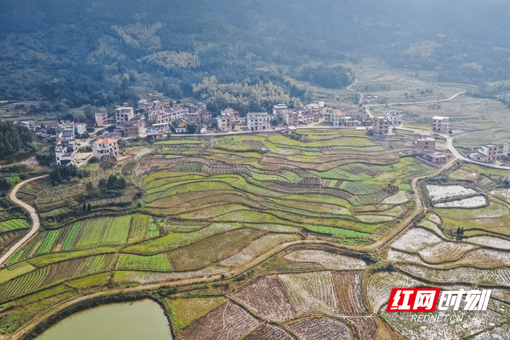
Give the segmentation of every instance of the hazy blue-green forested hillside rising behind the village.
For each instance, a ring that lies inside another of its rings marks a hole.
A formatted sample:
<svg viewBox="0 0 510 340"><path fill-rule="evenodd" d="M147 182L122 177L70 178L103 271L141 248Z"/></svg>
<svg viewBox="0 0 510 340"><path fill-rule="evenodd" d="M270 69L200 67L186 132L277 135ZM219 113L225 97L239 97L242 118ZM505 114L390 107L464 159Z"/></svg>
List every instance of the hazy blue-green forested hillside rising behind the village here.
<svg viewBox="0 0 510 340"><path fill-rule="evenodd" d="M340 88L349 63L380 57L438 79L510 79L508 5L477 1L4 0L0 98L103 106L156 89L173 98L219 84ZM490 25L488 25L490 23ZM294 93L291 93L294 91ZM58 109L57 108L57 109Z"/></svg>

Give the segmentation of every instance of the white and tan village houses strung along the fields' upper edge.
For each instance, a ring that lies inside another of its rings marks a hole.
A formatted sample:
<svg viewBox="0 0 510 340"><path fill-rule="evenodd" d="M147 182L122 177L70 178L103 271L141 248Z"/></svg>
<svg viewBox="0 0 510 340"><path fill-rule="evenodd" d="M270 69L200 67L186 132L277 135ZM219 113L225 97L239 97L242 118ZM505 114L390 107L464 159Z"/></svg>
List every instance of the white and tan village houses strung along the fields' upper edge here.
<svg viewBox="0 0 510 340"><path fill-rule="evenodd" d="M91 142L92 156L98 159L118 157L118 138L147 137L158 140L166 137L169 132L187 132L188 125L194 124L201 133L215 127L219 132L232 130L263 131L271 130L271 121L277 120L288 125L286 133L296 133L296 126L308 125L324 121L334 127L355 128L372 126L375 134L383 137L390 134L392 126L402 125L402 112L387 110L384 115L368 119L363 108L344 106L331 108L324 102L310 103L300 108L288 108L285 104L273 106L272 115L267 112L247 113L246 117L232 108L220 111L217 117L208 111L205 103L179 105L163 103L157 97L149 95L138 101L135 110L128 103L115 106L115 113L106 109L96 111L96 127L113 127L103 135L95 137ZM28 123L28 122L20 122ZM115 126L113 126L115 125ZM448 117L434 116L431 125L434 133L450 132ZM89 131L90 128L89 128ZM142 132L143 131L143 132ZM86 123L60 122L37 132L42 140L55 142L55 158L57 165L74 164L77 155L76 137L86 135ZM468 155L478 162L496 162L499 156L498 145L482 145L477 152ZM431 135L414 134L414 154L432 164L443 164L448 155L436 151L436 140ZM510 157L510 141L504 143L503 155Z"/></svg>

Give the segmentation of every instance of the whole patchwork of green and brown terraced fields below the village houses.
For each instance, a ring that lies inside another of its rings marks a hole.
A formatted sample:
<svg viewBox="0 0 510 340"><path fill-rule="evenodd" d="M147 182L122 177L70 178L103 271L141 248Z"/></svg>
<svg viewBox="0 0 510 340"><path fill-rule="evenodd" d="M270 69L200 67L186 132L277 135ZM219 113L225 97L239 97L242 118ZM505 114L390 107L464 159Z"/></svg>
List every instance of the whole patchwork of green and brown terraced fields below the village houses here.
<svg viewBox="0 0 510 340"><path fill-rule="evenodd" d="M489 219L510 215L497 188L506 174L449 169L446 181L486 204L430 207L395 242L364 254L356 249L414 210L412 179L438 169L411 156L411 135L299 132L172 139L83 181L23 188L18 197L45 229L0 270L0 339L17 339L55 306L140 292L164 306L176 339L423 339L424 330L381 312L390 288L475 283L497 300L489 322L473 329L504 331L510 239L504 222L494 229ZM84 182L110 173L128 179L123 196L73 215ZM23 221L0 227L12 232Z"/></svg>

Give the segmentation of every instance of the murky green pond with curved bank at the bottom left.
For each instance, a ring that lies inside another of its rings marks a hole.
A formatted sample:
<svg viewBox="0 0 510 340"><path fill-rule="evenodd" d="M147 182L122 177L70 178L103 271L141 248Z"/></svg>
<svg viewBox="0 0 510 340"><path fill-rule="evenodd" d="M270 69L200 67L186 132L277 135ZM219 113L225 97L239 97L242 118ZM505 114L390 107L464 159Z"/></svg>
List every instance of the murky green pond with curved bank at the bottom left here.
<svg viewBox="0 0 510 340"><path fill-rule="evenodd" d="M162 307L152 300L94 307L62 319L35 340L171 340Z"/></svg>

